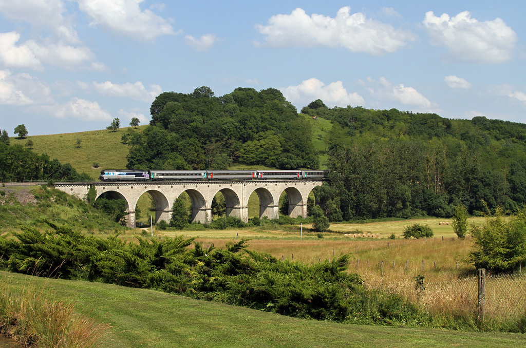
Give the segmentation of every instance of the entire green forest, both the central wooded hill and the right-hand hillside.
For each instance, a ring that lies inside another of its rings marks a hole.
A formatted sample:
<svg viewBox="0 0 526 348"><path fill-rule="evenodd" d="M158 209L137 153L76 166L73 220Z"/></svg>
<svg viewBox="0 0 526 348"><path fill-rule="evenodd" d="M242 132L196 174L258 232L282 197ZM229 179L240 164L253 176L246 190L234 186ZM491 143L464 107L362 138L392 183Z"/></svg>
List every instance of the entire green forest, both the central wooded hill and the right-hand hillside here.
<svg viewBox="0 0 526 348"><path fill-rule="evenodd" d="M151 127L124 136L129 168L313 169L326 152L329 180L315 195L330 221L451 217L459 204L480 216L524 204L526 125L516 122L328 108L317 99L301 114L332 122L320 151L309 123L274 88L167 92L150 113Z"/></svg>

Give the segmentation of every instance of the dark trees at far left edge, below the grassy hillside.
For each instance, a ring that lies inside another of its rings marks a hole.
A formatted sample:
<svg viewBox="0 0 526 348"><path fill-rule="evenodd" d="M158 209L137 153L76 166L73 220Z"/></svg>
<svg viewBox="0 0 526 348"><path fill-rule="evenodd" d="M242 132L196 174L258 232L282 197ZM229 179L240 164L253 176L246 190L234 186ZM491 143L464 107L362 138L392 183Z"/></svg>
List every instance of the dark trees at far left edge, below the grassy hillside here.
<svg viewBox="0 0 526 348"><path fill-rule="evenodd" d="M78 173L69 163L50 160L45 153L38 155L22 145L6 145L0 141L0 181L23 182L36 180L92 180Z"/></svg>

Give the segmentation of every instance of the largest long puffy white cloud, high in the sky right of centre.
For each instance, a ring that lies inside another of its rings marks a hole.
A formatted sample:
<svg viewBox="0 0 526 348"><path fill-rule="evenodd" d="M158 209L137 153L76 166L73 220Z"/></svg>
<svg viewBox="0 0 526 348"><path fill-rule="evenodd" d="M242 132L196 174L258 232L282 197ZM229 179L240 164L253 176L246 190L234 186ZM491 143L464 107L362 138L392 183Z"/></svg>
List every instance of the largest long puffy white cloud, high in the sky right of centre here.
<svg viewBox="0 0 526 348"><path fill-rule="evenodd" d="M290 15L270 17L269 24L256 25L266 42L275 47L345 47L352 52L383 55L395 52L414 40L414 35L362 13L350 14L350 7L342 7L336 17L318 14L309 16L301 8Z"/></svg>

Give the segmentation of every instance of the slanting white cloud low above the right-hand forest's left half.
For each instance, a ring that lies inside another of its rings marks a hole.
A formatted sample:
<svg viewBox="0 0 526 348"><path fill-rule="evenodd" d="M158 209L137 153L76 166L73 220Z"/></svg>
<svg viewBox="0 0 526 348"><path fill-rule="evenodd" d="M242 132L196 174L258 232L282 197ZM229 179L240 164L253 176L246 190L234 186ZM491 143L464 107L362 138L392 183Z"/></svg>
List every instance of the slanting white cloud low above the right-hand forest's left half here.
<svg viewBox="0 0 526 348"><path fill-rule="evenodd" d="M369 93L378 99L389 99L398 101L402 105L414 106L420 109L429 110L437 107L426 97L418 93L413 87L391 84L385 77L380 77L379 81L367 78Z"/></svg>

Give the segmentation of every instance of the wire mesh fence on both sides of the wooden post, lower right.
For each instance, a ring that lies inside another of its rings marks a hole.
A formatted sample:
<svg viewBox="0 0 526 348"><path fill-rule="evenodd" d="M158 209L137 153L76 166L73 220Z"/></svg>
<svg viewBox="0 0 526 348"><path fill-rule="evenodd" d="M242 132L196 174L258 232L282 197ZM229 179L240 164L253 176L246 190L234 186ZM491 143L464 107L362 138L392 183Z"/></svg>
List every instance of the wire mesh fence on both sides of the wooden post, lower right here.
<svg viewBox="0 0 526 348"><path fill-rule="evenodd" d="M465 311L477 313L479 304L478 277L449 282L427 283L419 296L426 308L437 311ZM487 275L483 293L483 316L487 319L508 320L526 314L526 275ZM480 313L480 312L479 312Z"/></svg>

